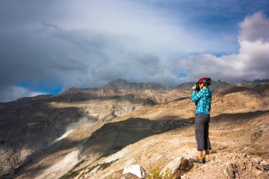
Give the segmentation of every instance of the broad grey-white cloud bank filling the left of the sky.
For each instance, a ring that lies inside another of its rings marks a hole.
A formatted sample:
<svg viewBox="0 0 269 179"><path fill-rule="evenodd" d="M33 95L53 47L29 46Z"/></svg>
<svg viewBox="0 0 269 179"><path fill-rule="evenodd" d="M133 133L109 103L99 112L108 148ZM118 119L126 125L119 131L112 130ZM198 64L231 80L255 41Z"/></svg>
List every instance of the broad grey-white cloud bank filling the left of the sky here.
<svg viewBox="0 0 269 179"><path fill-rule="evenodd" d="M203 35L188 33L168 11L141 1L13 0L0 7L3 86L46 81L66 89L120 77L150 80L162 69L145 64L152 57L221 48L210 40L201 46Z"/></svg>

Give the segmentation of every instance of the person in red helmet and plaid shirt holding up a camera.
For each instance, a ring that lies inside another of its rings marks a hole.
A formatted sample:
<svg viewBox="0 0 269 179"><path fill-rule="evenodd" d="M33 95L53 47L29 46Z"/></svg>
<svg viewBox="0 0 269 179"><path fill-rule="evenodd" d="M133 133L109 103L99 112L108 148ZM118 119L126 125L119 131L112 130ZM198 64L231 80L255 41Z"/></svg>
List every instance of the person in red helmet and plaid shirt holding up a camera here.
<svg viewBox="0 0 269 179"><path fill-rule="evenodd" d="M209 154L211 145L208 137L210 123L210 109L212 102L212 93L210 91L211 79L202 78L193 85L193 93L190 97L192 102L197 105L195 112L195 139L198 145L198 162L204 163L210 160ZM205 150L205 157L202 157L202 151Z"/></svg>

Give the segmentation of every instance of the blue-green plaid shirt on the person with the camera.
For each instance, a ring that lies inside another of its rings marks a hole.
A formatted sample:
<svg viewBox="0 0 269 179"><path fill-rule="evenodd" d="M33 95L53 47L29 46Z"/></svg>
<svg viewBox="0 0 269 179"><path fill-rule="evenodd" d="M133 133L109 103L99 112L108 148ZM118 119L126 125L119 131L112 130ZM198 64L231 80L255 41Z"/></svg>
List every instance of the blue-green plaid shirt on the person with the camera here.
<svg viewBox="0 0 269 179"><path fill-rule="evenodd" d="M203 113L205 115L210 115L212 102L212 93L210 88L202 88L197 94L193 91L190 98L193 103L197 103L196 114Z"/></svg>

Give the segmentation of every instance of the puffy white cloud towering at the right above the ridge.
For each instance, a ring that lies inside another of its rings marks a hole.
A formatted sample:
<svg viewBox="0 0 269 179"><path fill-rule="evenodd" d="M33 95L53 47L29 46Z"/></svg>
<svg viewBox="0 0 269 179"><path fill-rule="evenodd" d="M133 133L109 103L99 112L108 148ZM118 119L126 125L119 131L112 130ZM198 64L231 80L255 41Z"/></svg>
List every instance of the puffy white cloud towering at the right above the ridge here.
<svg viewBox="0 0 269 179"><path fill-rule="evenodd" d="M200 54L187 57L181 62L188 79L202 76L222 79L231 83L242 79L268 79L269 76L269 18L261 12L247 16L240 23L239 52L215 57Z"/></svg>

